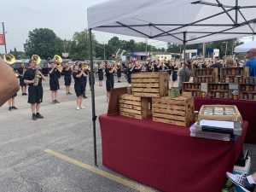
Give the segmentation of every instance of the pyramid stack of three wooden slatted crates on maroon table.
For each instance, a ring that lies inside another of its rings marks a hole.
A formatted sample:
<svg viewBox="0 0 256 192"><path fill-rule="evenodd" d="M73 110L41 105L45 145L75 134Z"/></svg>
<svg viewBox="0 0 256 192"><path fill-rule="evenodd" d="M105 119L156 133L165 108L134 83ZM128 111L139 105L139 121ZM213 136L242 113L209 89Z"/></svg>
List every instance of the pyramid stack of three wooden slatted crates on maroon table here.
<svg viewBox="0 0 256 192"><path fill-rule="evenodd" d="M168 97L168 73L131 75L132 95L119 96L119 113L136 119L186 126L192 123L194 100L191 96Z"/></svg>

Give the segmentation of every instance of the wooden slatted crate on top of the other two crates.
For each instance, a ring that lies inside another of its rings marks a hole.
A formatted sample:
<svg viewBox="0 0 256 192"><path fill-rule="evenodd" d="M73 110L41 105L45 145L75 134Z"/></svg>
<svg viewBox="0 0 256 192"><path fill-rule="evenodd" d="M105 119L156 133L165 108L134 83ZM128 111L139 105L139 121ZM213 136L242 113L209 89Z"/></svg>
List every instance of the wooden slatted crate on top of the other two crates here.
<svg viewBox="0 0 256 192"><path fill-rule="evenodd" d="M131 74L131 87L133 96L168 96L169 74L167 72Z"/></svg>

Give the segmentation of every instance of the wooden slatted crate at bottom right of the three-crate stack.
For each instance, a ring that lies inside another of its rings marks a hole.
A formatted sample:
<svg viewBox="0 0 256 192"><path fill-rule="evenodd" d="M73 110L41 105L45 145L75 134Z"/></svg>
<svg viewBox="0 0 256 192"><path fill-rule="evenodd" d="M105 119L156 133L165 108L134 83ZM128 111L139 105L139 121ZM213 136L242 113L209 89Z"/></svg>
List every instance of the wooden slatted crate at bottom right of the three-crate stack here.
<svg viewBox="0 0 256 192"><path fill-rule="evenodd" d="M152 99L153 121L188 126L194 121L194 99L179 96Z"/></svg>

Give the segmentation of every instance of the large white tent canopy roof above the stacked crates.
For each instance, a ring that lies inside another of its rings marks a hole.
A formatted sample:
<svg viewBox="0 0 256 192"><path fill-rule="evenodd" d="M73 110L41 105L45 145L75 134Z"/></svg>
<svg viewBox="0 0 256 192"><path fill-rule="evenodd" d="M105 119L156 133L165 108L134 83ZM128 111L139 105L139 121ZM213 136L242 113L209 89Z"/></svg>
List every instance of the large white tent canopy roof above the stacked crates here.
<svg viewBox="0 0 256 192"><path fill-rule="evenodd" d="M256 34L255 0L110 0L87 13L93 30L174 44Z"/></svg>

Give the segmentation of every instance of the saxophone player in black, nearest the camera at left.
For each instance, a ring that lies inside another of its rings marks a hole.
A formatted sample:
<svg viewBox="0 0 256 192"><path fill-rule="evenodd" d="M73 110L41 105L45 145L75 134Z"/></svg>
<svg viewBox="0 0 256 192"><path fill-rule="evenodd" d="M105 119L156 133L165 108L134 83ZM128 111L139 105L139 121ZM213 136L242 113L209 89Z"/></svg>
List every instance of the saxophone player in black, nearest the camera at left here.
<svg viewBox="0 0 256 192"><path fill-rule="evenodd" d="M43 102L43 86L42 79L45 77L43 73L36 68L37 62L34 60L29 61L30 68L24 74L24 82L28 84L28 103L31 104L32 119L44 119L40 112L40 103Z"/></svg>

